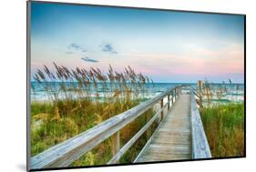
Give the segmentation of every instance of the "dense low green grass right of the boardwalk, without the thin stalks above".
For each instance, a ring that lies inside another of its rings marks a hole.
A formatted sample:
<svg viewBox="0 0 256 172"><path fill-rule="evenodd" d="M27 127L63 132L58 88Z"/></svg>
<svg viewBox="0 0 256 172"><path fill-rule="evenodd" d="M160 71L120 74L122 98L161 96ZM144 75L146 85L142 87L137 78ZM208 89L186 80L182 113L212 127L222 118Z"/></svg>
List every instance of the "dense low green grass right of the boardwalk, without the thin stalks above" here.
<svg viewBox="0 0 256 172"><path fill-rule="evenodd" d="M244 156L244 103L200 108L212 157Z"/></svg>

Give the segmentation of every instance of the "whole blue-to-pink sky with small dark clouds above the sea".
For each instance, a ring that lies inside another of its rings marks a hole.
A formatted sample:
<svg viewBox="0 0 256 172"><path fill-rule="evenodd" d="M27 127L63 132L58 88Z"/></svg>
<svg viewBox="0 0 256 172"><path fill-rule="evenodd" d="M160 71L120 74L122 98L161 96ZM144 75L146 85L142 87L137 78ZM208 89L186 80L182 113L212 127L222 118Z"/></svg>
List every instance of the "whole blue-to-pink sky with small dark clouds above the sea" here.
<svg viewBox="0 0 256 172"><path fill-rule="evenodd" d="M243 15L46 4L31 6L31 74L53 62L154 82L244 81Z"/></svg>

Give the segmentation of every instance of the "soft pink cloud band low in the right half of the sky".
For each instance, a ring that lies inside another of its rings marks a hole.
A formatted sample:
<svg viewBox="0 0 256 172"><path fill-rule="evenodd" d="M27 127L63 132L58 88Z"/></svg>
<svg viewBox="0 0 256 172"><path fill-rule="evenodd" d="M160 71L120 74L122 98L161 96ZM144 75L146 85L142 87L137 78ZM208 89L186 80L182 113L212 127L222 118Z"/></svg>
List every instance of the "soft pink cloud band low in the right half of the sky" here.
<svg viewBox="0 0 256 172"><path fill-rule="evenodd" d="M136 70L153 76L237 74L243 73L244 70L243 46L234 44L219 50L194 46L180 55L129 55L125 58L124 64L134 66Z"/></svg>

